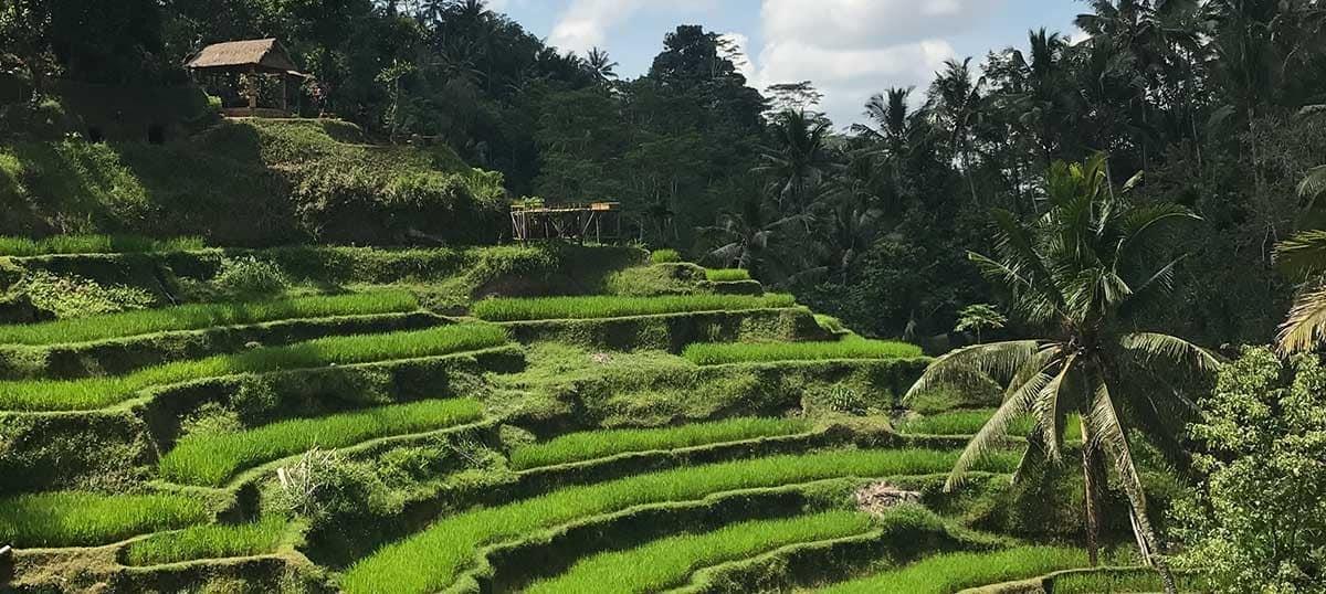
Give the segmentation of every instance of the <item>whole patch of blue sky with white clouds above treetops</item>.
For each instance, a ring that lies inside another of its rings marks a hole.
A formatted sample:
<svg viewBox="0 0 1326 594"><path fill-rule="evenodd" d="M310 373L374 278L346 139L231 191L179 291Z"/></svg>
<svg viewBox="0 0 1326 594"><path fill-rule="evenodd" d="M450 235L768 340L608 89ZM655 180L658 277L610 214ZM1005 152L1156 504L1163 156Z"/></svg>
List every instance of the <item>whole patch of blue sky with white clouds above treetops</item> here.
<svg viewBox="0 0 1326 594"><path fill-rule="evenodd" d="M839 126L873 93L924 86L949 57L1026 42L1049 28L1077 36L1075 0L489 0L529 32L581 54L606 49L618 73L648 70L679 24L729 33L745 49L752 86L814 81Z"/></svg>

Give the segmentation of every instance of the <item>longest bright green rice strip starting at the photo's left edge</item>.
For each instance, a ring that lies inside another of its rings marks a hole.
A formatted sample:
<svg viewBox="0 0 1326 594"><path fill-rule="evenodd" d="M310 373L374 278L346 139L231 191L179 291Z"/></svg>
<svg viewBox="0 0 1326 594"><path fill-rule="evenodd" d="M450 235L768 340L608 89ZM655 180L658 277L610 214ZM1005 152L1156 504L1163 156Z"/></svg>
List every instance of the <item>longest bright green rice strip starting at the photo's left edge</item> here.
<svg viewBox="0 0 1326 594"><path fill-rule="evenodd" d="M127 375L0 382L0 410L90 410L131 399L139 390L223 375L438 357L507 342L501 326L463 324L392 334L318 338L288 346L149 367Z"/></svg>

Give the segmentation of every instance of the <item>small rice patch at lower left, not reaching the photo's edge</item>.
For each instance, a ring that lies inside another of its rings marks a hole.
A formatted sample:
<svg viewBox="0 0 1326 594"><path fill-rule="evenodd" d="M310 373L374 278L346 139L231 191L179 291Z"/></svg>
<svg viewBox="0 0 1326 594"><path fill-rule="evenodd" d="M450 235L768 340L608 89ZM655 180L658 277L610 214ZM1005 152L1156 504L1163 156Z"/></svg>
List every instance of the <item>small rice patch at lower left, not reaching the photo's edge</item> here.
<svg viewBox="0 0 1326 594"><path fill-rule="evenodd" d="M129 565L178 564L272 553L281 544L286 526L285 518L265 517L251 524L208 524L167 532L129 545Z"/></svg>

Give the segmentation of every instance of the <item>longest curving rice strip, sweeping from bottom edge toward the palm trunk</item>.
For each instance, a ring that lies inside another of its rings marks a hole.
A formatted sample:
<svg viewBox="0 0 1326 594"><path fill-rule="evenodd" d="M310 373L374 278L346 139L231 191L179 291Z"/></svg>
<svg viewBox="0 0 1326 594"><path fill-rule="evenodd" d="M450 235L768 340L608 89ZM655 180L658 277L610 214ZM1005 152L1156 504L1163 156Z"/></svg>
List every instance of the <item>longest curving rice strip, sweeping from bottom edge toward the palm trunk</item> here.
<svg viewBox="0 0 1326 594"><path fill-rule="evenodd" d="M572 487L509 505L451 516L379 549L345 574L349 593L424 593L451 585L484 544L520 538L594 514L635 505L691 501L708 495L846 476L945 472L957 452L931 449L830 451L770 456L639 475ZM992 456L983 468L1009 472L1017 456Z"/></svg>

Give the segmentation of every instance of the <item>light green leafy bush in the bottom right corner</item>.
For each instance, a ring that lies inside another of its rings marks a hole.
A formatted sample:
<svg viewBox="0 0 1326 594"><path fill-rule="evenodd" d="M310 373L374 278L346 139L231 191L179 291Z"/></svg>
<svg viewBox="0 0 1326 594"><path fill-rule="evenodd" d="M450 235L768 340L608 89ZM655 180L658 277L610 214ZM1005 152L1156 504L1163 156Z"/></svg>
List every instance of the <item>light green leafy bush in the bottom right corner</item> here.
<svg viewBox="0 0 1326 594"><path fill-rule="evenodd" d="M1248 349L1201 400L1192 436L1205 475L1184 521L1183 560L1217 591L1326 587L1326 367L1315 355L1288 366Z"/></svg>

